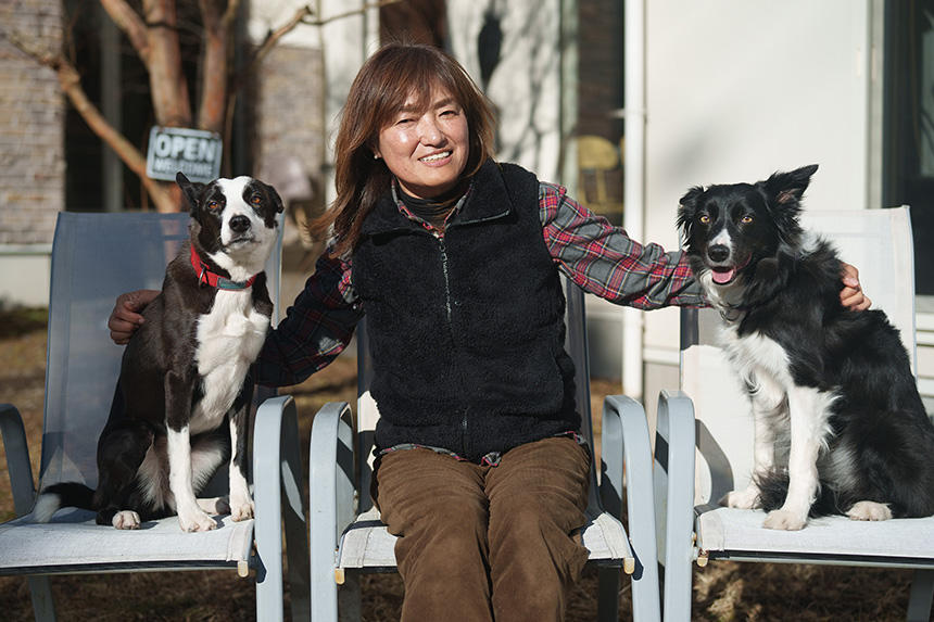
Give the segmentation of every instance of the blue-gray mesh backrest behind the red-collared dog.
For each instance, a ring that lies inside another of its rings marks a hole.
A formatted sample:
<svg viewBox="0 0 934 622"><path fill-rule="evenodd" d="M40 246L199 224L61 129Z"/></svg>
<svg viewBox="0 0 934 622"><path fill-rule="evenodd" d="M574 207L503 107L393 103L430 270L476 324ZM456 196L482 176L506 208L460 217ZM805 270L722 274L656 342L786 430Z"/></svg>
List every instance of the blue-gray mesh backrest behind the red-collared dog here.
<svg viewBox="0 0 934 622"><path fill-rule="evenodd" d="M188 239L188 214L59 214L52 245L40 487L97 486L97 443L124 348L106 322L123 292L162 289L165 266ZM280 226L281 242L281 226ZM278 309L281 244L266 265ZM277 312L274 312L274 321Z"/></svg>

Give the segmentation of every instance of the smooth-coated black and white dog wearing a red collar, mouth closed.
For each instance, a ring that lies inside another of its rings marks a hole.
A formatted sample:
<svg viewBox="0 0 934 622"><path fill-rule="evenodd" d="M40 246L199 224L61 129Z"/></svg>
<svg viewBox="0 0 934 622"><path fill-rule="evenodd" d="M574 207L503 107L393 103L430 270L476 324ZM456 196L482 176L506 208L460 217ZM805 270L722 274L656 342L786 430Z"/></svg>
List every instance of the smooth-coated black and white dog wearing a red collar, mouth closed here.
<svg viewBox="0 0 934 622"><path fill-rule="evenodd" d="M282 201L250 177L202 185L179 173L177 181L191 207L190 243L168 264L124 352L98 441L98 487L49 486L34 509L40 522L63 506L92 509L99 524L117 529L177 513L184 531L206 531L216 526L209 513L253 516L244 379L269 328L263 268ZM229 503L198 499L228 455Z"/></svg>

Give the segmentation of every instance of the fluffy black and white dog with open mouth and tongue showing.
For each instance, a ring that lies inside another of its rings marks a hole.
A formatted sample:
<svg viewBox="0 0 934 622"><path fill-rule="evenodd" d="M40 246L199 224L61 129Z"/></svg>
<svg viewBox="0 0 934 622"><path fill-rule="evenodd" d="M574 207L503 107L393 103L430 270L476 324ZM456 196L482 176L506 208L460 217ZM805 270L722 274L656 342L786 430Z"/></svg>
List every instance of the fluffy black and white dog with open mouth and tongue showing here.
<svg viewBox="0 0 934 622"><path fill-rule="evenodd" d="M761 507L780 530L830 513L934 515L934 427L898 331L881 310L843 307L836 252L798 225L816 170L681 199L692 269L723 318L755 418L753 483L721 503Z"/></svg>

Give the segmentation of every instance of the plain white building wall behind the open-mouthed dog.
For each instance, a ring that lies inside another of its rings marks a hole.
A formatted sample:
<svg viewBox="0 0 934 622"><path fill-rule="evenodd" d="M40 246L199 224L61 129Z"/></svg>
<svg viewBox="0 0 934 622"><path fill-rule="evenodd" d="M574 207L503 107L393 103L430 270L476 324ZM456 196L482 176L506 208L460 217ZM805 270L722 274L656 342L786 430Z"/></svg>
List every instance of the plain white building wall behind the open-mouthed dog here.
<svg viewBox="0 0 934 622"><path fill-rule="evenodd" d="M645 231L678 247L694 185L817 163L815 208L869 205L869 0L645 1ZM678 310L645 315L646 396L678 363Z"/></svg>

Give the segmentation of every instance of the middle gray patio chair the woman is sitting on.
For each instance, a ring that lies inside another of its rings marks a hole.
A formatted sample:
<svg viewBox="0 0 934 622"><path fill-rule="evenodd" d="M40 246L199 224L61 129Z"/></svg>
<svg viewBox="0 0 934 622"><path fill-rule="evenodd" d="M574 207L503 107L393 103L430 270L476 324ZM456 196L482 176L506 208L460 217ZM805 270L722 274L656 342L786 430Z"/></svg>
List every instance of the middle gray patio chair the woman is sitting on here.
<svg viewBox="0 0 934 622"><path fill-rule="evenodd" d="M577 368L577 404L593 447L590 376L583 292L568 284L568 352ZM356 421L346 403L330 403L316 415L311 441L312 619L359 619L359 574L395 571L395 537L379 520L369 496L374 429L379 414L367 391L366 329L357 328ZM354 428L356 423L356 428ZM589 522L583 544L598 569L599 620L617 620L619 571L632 582L638 620L658 620L658 568L652 502L649 436L642 406L624 396L606 399L602 429L602 477L591 468ZM624 450L623 450L624 449ZM620 513L623 462L630 533Z"/></svg>

